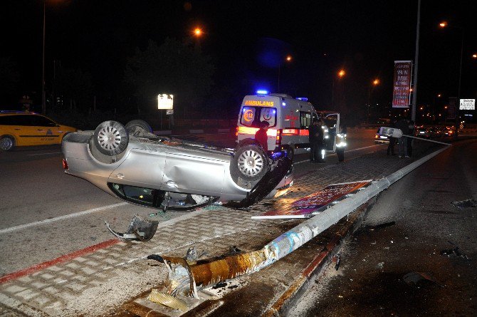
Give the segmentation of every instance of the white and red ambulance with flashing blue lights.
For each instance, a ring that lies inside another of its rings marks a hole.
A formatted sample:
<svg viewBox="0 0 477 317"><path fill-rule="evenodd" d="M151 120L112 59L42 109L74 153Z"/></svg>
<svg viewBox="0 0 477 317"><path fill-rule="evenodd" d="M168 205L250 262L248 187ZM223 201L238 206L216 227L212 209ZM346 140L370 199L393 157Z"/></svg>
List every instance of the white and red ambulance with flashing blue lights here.
<svg viewBox="0 0 477 317"><path fill-rule="evenodd" d="M310 152L308 128L313 119L322 118L326 152L336 152L346 146L340 133L340 113L317 111L307 98L293 98L281 93L257 92L246 95L237 119L238 142L253 139L260 123L268 123L268 152L287 152L288 156Z"/></svg>

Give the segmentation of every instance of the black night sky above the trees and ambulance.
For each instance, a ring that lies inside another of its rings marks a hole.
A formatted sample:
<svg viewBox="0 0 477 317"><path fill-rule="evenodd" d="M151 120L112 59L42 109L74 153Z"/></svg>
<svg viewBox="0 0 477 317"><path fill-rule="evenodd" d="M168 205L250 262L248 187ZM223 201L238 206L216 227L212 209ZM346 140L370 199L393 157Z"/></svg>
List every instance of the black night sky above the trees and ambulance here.
<svg viewBox="0 0 477 317"><path fill-rule="evenodd" d="M457 94L462 28L461 96L476 98L474 2L422 0L418 104L433 103L437 93ZM0 56L16 62L22 93L40 91L43 1L1 1L0 11ZM280 52L293 56L280 67L282 92L330 108L332 80L344 68L336 85L350 109L367 103L374 78L380 85L372 102L389 104L394 61L414 60L416 11L416 0L46 0L46 80L57 60L89 72L96 95L115 93L136 47L145 49L150 39L182 41L200 26L201 50L216 68L214 91L236 88L231 103L257 88L277 90L273 53ZM458 28L439 28L443 20Z"/></svg>

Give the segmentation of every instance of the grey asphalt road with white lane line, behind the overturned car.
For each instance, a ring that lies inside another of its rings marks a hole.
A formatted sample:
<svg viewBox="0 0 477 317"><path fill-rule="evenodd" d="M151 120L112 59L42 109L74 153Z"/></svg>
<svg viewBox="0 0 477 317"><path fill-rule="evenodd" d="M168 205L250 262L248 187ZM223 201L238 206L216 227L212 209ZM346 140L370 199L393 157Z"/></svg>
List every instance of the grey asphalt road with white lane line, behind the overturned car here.
<svg viewBox="0 0 477 317"><path fill-rule="evenodd" d="M373 137L374 129L350 129L345 160L385 146L374 145ZM194 135L189 139L234 144L233 136ZM335 164L337 155L326 160ZM156 212L65 175L61 161L59 145L0 152L0 276L112 239L105 221L124 232L135 214L147 217ZM323 167L308 163L308 155L297 155L296 162L298 174ZM182 214L167 212L154 219L167 221Z"/></svg>

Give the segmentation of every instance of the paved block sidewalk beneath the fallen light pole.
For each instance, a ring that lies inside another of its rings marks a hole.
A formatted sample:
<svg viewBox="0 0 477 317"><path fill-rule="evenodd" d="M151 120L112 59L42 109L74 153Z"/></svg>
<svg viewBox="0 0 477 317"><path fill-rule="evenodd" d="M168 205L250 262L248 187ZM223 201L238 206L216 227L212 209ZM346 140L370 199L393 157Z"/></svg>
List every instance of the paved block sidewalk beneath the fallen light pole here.
<svg viewBox="0 0 477 317"><path fill-rule="evenodd" d="M295 180L293 192L280 199L263 201L251 210L215 206L201 209L159 223L151 241L118 241L105 249L11 279L0 284L0 316L133 316L127 312L132 302L142 303L166 316L180 316L179 311L142 300L145 293L162 284L167 276L164 265L147 260L146 256L185 256L191 246L195 246L199 254L206 252L203 258L226 254L231 246L242 251L260 249L300 221L256 220L251 216L280 208L327 185L378 180L437 148L440 146L419 143L411 159L389 157L384 149L339 165L315 165L316 170ZM364 210L342 219L318 239L266 269L203 291L201 294L209 301L185 316L206 311L212 311L208 316L259 316L282 311L293 293L307 281L307 276L330 258L340 237L352 229L353 224L358 224L355 220L360 219ZM135 297L137 300L131 301Z"/></svg>

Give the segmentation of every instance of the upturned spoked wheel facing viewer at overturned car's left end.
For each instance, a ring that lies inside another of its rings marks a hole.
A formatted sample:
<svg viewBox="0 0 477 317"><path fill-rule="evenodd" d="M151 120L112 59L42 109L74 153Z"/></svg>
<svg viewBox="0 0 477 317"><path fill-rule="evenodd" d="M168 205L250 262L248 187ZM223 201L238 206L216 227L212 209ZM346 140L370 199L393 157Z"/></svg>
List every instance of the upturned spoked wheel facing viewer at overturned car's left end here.
<svg viewBox="0 0 477 317"><path fill-rule="evenodd" d="M129 133L121 123L105 121L96 128L93 142L98 151L104 155L118 155L126 150Z"/></svg>

